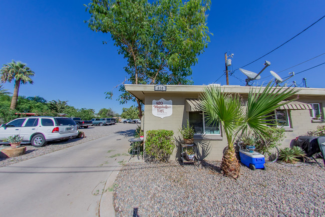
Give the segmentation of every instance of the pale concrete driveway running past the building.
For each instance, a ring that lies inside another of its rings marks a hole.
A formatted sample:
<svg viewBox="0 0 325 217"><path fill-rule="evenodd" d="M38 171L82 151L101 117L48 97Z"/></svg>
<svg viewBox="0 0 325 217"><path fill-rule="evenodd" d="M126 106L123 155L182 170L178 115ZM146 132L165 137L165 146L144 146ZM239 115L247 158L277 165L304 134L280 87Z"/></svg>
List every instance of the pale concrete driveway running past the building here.
<svg viewBox="0 0 325 217"><path fill-rule="evenodd" d="M112 187L130 159L128 138L114 133L0 168L1 215L115 216Z"/></svg>

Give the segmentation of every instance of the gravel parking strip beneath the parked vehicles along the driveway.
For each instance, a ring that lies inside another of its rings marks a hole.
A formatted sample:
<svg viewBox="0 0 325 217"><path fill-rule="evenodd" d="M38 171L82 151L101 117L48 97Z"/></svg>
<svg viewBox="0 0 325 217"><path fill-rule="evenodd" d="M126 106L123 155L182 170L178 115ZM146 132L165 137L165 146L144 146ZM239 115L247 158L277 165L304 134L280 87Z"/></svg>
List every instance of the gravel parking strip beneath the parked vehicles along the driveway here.
<svg viewBox="0 0 325 217"><path fill-rule="evenodd" d="M28 160L30 158L34 158L64 148L68 148L74 145L99 139L101 137L108 136L116 132L124 132L125 134L132 136L134 133L133 130L135 130L136 126L137 126L136 124L117 123L115 125L108 125L108 126L90 126L87 129L81 128L79 130L85 133L86 138L74 138L74 139L69 139L66 142L48 142L46 146L39 147L39 148L28 144L26 145L26 154L22 156L12 157L12 158L0 157L0 167L8 166L23 160ZM1 145L0 147L10 147L10 146Z"/></svg>

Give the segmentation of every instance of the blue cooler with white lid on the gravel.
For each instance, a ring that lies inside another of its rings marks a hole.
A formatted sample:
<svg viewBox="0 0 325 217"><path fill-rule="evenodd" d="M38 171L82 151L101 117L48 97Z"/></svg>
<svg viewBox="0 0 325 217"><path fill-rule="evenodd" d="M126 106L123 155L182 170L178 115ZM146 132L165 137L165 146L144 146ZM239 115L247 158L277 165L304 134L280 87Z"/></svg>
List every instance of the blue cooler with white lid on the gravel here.
<svg viewBox="0 0 325 217"><path fill-rule="evenodd" d="M239 149L240 161L248 166L250 169L265 169L265 158L263 154L256 151L249 152L246 149Z"/></svg>

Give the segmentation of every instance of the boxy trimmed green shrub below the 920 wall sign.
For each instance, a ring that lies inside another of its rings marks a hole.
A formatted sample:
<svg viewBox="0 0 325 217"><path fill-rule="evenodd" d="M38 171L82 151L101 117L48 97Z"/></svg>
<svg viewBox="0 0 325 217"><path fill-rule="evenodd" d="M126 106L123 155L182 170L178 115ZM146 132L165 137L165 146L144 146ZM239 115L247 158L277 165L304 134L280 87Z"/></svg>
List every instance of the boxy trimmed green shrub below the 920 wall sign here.
<svg viewBox="0 0 325 217"><path fill-rule="evenodd" d="M175 147L173 135L172 130L148 130L146 133L145 160L168 161Z"/></svg>

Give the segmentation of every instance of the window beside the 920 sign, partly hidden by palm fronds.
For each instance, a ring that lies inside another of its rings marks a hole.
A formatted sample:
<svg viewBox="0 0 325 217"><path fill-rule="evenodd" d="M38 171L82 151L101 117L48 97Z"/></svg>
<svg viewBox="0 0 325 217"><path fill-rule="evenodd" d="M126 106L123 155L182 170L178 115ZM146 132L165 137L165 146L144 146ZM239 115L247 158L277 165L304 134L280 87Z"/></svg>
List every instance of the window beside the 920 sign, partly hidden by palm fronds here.
<svg viewBox="0 0 325 217"><path fill-rule="evenodd" d="M207 124L203 111L189 112L188 120L195 130L195 134L215 134L220 135L220 124Z"/></svg>

